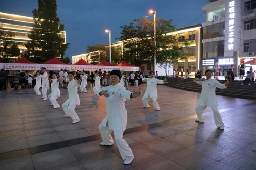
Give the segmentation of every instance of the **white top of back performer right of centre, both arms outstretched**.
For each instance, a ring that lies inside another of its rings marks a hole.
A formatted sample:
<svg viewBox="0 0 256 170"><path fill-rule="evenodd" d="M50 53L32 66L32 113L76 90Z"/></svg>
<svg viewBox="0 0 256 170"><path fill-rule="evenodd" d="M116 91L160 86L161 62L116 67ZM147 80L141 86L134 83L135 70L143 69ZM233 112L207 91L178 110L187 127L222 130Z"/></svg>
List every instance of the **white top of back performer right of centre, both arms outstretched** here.
<svg viewBox="0 0 256 170"><path fill-rule="evenodd" d="M144 96L146 98L157 97L157 84L163 84L163 80L156 78L142 78L142 81L147 80L147 87Z"/></svg>

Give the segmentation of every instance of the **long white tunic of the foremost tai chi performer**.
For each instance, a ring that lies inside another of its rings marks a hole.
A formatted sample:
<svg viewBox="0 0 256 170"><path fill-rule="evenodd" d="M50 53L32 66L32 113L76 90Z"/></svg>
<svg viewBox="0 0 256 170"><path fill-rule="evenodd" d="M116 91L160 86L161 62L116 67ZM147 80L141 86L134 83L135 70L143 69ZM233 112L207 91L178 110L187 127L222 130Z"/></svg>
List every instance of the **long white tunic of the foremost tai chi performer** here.
<svg viewBox="0 0 256 170"><path fill-rule="evenodd" d="M108 123L109 129L125 130L127 126L127 111L125 109L124 99L130 99L131 91L128 91L121 86L120 83L99 88L97 94L101 91L107 91L109 96L106 100L106 117L103 119L103 124ZM122 129L120 129L122 128Z"/></svg>

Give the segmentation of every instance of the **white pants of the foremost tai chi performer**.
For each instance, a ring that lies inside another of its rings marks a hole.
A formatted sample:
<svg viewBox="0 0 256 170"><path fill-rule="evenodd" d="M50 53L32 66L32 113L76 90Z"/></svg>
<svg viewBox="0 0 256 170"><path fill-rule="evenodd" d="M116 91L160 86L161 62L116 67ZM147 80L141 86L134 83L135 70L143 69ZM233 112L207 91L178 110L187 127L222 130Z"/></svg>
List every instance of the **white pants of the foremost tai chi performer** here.
<svg viewBox="0 0 256 170"><path fill-rule="evenodd" d="M121 129L122 129L122 127L121 127ZM118 148L123 160L128 156L133 156L133 152L132 152L131 148L128 146L128 143L123 139L123 130L111 130L111 129L109 129L108 126L105 127L104 124L101 123L99 125L99 131L100 131L100 134L101 134L104 144L107 144L107 145L114 144L114 141L110 135L111 132L114 131L116 145L117 145L117 148Z"/></svg>

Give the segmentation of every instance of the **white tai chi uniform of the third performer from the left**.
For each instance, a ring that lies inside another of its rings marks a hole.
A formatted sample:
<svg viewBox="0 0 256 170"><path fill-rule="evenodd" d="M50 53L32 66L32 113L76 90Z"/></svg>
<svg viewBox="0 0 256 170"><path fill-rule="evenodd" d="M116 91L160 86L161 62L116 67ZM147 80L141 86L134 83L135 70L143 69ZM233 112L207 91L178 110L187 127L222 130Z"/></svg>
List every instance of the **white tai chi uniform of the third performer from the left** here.
<svg viewBox="0 0 256 170"><path fill-rule="evenodd" d="M51 83L51 90L52 93L48 95L48 99L50 103L53 105L53 108L59 108L59 104L56 101L58 97L60 97L60 90L59 90L59 82L57 82L58 79L53 79Z"/></svg>

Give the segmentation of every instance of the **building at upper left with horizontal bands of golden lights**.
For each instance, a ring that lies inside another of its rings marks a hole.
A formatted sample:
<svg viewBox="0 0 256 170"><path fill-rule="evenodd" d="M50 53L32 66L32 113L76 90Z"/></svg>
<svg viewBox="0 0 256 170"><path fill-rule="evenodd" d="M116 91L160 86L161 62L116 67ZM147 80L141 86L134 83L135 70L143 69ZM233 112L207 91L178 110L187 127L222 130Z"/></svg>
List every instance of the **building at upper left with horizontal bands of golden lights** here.
<svg viewBox="0 0 256 170"><path fill-rule="evenodd" d="M11 40L17 43L20 53L24 53L27 50L25 44L31 41L28 35L33 25L34 20L32 17L0 12L0 29L14 33L14 37ZM60 32L60 36L65 40L63 43L66 43L66 32Z"/></svg>

